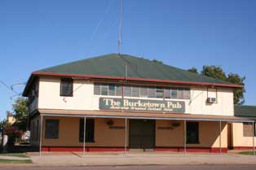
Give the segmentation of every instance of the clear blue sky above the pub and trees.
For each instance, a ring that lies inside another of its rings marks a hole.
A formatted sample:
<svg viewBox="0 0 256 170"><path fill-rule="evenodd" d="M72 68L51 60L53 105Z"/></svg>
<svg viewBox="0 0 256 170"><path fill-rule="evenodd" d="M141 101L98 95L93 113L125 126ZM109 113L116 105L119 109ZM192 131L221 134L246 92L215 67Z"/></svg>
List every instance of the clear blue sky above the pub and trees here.
<svg viewBox="0 0 256 170"><path fill-rule="evenodd" d="M246 76L245 104L256 105L255 1L123 3L122 53L184 69L219 65ZM118 6L118 0L1 0L0 80L13 85L42 68L117 52ZM1 84L0 92L4 119L14 94Z"/></svg>

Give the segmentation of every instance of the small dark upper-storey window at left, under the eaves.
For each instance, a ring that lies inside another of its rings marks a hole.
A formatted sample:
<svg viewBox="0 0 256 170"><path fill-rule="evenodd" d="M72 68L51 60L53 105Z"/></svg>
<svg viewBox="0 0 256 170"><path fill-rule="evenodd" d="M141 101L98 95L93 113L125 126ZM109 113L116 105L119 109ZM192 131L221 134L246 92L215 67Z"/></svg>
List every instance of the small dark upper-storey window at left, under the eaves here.
<svg viewBox="0 0 256 170"><path fill-rule="evenodd" d="M72 78L61 79L60 96L73 96L73 79Z"/></svg>

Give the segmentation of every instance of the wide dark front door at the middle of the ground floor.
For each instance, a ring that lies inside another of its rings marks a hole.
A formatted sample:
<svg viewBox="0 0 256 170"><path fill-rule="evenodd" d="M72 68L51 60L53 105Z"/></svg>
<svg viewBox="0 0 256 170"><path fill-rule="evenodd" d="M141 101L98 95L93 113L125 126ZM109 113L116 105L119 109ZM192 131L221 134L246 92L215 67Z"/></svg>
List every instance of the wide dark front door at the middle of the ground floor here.
<svg viewBox="0 0 256 170"><path fill-rule="evenodd" d="M155 147L155 120L130 120L129 144L131 149Z"/></svg>

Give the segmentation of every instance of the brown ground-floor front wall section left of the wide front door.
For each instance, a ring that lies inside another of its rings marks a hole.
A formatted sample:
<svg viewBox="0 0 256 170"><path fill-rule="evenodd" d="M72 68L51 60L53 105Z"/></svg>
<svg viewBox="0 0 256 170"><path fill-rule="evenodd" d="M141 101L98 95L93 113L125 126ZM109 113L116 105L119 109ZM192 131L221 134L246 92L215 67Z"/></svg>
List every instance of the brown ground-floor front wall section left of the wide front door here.
<svg viewBox="0 0 256 170"><path fill-rule="evenodd" d="M59 119L59 139L46 139L45 120ZM79 142L79 120L78 117L44 117L42 146L82 146ZM109 119L95 118L95 142L86 142L86 146L124 146L124 129L110 129L106 121ZM124 126L125 120L113 119L113 126ZM127 141L128 137L127 137ZM127 143L128 145L128 143Z"/></svg>

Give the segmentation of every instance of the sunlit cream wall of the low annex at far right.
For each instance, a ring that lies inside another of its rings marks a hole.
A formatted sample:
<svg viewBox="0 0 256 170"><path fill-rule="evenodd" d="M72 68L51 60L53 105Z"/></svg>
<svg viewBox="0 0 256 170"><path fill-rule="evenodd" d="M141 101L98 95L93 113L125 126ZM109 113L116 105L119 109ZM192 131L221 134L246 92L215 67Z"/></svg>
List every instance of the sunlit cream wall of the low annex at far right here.
<svg viewBox="0 0 256 170"><path fill-rule="evenodd" d="M253 146L253 137L244 137L243 123L233 123L232 124L232 137L233 146ZM256 144L256 137L254 138L254 143Z"/></svg>

